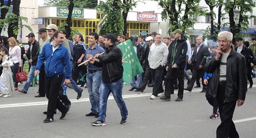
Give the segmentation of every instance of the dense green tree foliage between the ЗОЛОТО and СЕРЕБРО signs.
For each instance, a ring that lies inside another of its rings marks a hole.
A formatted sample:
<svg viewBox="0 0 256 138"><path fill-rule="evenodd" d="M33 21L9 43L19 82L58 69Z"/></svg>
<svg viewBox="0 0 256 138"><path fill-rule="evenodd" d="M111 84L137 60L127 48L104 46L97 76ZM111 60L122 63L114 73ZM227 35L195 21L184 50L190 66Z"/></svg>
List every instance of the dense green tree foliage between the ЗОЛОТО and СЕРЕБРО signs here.
<svg viewBox="0 0 256 138"><path fill-rule="evenodd" d="M113 33L114 35L122 34L123 32L123 17L122 9L123 4L119 0L109 0L105 3L100 2L96 7L99 11L102 11L102 17L105 16L105 22L101 26L100 35Z"/></svg>

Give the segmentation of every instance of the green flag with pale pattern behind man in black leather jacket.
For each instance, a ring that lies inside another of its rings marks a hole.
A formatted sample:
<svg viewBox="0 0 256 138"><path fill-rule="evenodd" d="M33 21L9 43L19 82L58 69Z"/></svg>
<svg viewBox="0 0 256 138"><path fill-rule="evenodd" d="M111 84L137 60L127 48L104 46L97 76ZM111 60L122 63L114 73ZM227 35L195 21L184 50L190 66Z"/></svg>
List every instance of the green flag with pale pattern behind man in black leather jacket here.
<svg viewBox="0 0 256 138"><path fill-rule="evenodd" d="M143 71L140 65L137 54L134 51L133 44L131 40L127 40L118 45L122 50L122 64L123 64L123 81L125 84L129 84L132 78Z"/></svg>

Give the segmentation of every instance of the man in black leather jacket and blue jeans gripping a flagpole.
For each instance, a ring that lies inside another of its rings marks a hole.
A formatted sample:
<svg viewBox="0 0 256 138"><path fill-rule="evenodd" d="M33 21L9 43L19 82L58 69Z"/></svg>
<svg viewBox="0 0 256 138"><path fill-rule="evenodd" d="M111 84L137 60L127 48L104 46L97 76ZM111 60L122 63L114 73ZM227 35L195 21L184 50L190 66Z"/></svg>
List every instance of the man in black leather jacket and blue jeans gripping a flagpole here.
<svg viewBox="0 0 256 138"><path fill-rule="evenodd" d="M128 111L122 98L123 88L123 66L122 66L122 51L116 45L116 36L107 34L104 37L106 52L104 54L96 54L98 58L89 58L90 63L96 67L102 67L102 82L100 85L99 98L99 117L98 120L92 122L93 126L105 126L106 117L106 102L112 92L117 106L121 112L120 124L127 123Z"/></svg>

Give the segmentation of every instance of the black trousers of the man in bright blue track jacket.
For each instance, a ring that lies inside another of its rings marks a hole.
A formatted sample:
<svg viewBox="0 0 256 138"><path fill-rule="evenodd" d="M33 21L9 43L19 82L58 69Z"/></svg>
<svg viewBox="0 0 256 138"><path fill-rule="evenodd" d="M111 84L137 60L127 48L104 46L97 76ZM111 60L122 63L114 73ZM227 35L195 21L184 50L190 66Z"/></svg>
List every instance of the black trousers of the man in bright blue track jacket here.
<svg viewBox="0 0 256 138"><path fill-rule="evenodd" d="M62 75L45 77L45 92L46 97L48 98L47 117L53 117L56 108L61 112L65 112L68 108L58 99L62 77Z"/></svg>

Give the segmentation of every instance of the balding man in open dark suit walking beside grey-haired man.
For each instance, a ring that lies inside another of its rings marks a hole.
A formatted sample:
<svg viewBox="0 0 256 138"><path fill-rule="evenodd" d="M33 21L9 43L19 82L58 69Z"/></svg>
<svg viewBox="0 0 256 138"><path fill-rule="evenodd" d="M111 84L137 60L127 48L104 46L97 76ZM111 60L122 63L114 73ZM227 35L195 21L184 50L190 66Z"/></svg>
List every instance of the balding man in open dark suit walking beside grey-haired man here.
<svg viewBox="0 0 256 138"><path fill-rule="evenodd" d="M193 68L192 78L191 78L191 81L188 83L187 88L184 89L188 91L191 91L193 89L194 83L199 76L202 78L202 81L203 81L203 77L204 77L203 67L206 63L207 54L209 54L208 47L202 43L203 41L202 37L198 36L196 38L196 41L197 41L197 46L195 47L195 50L192 55L193 60L191 61L191 68ZM201 92L205 92L206 86L204 85L204 83L202 83L202 85L203 85L203 90Z"/></svg>

